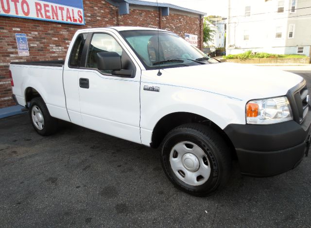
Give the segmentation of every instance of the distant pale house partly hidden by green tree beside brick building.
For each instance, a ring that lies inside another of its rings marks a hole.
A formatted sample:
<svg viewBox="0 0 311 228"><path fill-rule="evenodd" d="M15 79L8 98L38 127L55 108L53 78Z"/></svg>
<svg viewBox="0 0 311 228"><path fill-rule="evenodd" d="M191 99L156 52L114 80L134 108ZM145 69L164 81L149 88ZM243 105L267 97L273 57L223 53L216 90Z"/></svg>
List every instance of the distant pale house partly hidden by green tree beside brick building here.
<svg viewBox="0 0 311 228"><path fill-rule="evenodd" d="M226 22L223 18L208 19L207 24L211 30L214 30L212 41L207 42L208 47L224 48L225 47L225 25Z"/></svg>

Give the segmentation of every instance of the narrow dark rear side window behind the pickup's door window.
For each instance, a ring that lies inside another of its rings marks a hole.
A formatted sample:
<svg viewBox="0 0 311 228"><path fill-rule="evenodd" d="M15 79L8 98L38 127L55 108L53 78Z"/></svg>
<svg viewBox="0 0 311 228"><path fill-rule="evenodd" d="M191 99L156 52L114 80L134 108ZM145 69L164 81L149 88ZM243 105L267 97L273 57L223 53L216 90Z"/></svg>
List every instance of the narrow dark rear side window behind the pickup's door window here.
<svg viewBox="0 0 311 228"><path fill-rule="evenodd" d="M79 67L81 63L81 56L84 44L86 43L87 33L83 33L79 35L76 41L73 44L70 58L69 58L69 66L71 67Z"/></svg>

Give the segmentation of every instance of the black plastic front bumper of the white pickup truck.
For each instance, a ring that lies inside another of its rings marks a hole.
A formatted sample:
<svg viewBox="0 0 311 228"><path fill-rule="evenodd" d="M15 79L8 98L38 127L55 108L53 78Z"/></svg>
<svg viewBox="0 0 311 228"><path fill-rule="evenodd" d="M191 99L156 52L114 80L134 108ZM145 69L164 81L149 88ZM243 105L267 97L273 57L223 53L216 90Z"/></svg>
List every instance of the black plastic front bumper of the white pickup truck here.
<svg viewBox="0 0 311 228"><path fill-rule="evenodd" d="M294 120L271 125L230 124L224 130L236 149L242 174L274 176L293 169L308 155L311 112L301 124Z"/></svg>

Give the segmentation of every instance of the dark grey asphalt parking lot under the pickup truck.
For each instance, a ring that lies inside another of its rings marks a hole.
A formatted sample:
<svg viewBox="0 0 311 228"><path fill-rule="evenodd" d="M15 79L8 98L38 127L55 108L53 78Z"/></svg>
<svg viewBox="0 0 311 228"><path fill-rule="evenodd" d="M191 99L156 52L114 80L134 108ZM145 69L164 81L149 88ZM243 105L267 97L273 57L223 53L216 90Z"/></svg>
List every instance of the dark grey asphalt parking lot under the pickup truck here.
<svg viewBox="0 0 311 228"><path fill-rule="evenodd" d="M299 73L311 88L311 72ZM310 227L311 159L243 177L200 198L173 187L159 150L62 123L38 135L28 114L0 119L1 227Z"/></svg>

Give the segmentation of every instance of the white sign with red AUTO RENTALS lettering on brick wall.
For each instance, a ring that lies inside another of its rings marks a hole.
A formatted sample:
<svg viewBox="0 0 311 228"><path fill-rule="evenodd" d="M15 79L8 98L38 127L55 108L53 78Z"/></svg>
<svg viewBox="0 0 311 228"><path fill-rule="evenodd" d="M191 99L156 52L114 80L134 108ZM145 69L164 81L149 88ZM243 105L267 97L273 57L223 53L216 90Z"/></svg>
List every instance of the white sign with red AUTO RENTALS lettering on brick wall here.
<svg viewBox="0 0 311 228"><path fill-rule="evenodd" d="M85 25L83 0L0 0L0 16Z"/></svg>

